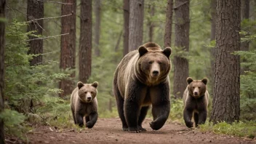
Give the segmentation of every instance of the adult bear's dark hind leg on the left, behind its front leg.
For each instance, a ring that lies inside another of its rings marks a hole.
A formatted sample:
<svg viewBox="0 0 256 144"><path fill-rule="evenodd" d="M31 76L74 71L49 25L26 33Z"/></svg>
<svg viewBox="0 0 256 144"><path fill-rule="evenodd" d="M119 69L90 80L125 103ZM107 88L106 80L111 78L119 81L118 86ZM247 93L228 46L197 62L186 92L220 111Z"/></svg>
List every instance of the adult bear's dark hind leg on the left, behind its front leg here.
<svg viewBox="0 0 256 144"><path fill-rule="evenodd" d="M119 111L119 117L121 119L123 131L127 131L128 130L128 125L127 125L127 121L125 120L125 117L124 117L124 99L123 99L123 97L121 97L121 94L120 94L119 89L117 87L115 87L113 89L113 91L116 95L117 111Z"/></svg>

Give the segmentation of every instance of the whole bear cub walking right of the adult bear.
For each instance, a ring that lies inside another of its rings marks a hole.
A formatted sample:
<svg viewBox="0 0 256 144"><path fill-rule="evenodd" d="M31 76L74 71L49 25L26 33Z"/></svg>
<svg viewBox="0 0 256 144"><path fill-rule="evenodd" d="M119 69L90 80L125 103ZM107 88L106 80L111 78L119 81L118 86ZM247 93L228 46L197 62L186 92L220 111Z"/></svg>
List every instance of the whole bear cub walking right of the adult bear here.
<svg viewBox="0 0 256 144"><path fill-rule="evenodd" d="M187 79L188 87L183 93L183 119L185 125L189 128L198 124L204 124L207 119L207 106L209 104L209 93L207 91L207 79L193 80L191 77Z"/></svg>

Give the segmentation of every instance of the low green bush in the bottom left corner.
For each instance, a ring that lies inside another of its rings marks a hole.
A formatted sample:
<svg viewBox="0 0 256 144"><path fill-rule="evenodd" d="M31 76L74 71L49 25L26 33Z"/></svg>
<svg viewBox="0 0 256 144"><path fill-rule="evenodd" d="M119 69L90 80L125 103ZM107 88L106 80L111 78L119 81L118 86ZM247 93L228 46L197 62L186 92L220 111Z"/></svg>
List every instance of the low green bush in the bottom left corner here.
<svg viewBox="0 0 256 144"><path fill-rule="evenodd" d="M27 132L29 129L29 127L23 124L26 119L23 113L4 109L4 111L0 113L0 119L4 121L4 132L9 135L22 138L23 132Z"/></svg>

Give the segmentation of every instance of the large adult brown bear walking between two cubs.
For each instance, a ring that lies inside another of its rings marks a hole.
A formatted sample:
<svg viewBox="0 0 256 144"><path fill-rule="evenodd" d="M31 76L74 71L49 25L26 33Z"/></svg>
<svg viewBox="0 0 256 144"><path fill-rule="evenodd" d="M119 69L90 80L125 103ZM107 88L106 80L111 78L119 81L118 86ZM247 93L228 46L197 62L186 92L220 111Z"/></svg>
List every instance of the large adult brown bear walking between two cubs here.
<svg viewBox="0 0 256 144"><path fill-rule="evenodd" d="M145 131L143 120L152 105L150 127L161 129L169 116L170 47L146 43L129 52L116 68L113 92L124 131Z"/></svg>

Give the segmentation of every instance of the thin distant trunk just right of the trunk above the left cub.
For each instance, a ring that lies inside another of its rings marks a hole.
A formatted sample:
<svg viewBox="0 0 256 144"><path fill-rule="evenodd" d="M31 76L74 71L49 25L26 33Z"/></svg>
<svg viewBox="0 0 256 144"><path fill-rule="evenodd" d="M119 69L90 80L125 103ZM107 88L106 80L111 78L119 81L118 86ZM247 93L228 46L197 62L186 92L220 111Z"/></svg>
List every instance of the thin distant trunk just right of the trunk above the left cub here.
<svg viewBox="0 0 256 144"><path fill-rule="evenodd" d="M100 57L100 9L101 5L101 0L96 0L95 1L95 17L96 17L96 22L95 22L95 55L97 57Z"/></svg>

